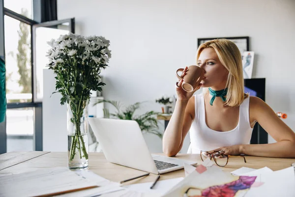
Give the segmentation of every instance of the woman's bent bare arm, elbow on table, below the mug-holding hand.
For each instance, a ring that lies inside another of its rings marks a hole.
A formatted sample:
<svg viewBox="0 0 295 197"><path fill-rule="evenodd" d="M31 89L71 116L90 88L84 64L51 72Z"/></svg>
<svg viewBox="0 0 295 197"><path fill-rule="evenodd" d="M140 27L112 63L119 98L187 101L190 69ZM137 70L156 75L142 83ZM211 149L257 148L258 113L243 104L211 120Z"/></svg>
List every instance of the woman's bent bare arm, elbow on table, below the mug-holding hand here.
<svg viewBox="0 0 295 197"><path fill-rule="evenodd" d="M168 157L175 156L181 150L183 140L195 116L194 98L176 102L174 112L163 135L163 152Z"/></svg>

